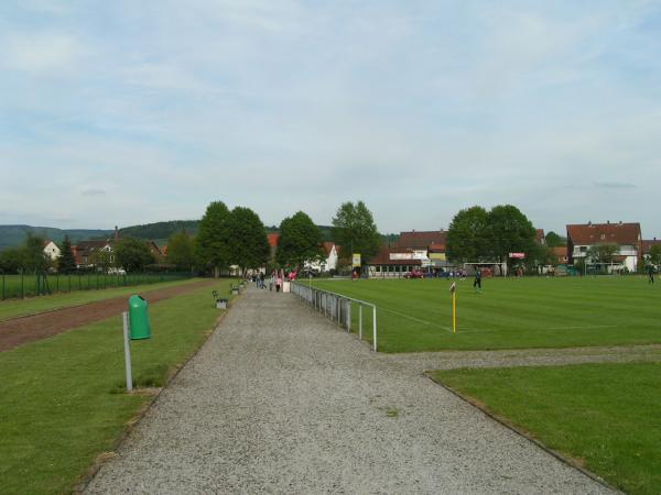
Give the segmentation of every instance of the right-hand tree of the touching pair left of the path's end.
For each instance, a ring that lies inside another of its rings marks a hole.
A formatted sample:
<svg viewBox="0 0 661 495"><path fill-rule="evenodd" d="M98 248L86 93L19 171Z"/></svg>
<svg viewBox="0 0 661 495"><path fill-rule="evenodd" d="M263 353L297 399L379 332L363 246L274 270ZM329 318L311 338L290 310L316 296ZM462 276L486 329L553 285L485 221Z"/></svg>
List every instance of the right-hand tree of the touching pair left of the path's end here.
<svg viewBox="0 0 661 495"><path fill-rule="evenodd" d="M230 264L241 268L258 268L269 261L270 248L264 224L250 208L236 207L228 221Z"/></svg>

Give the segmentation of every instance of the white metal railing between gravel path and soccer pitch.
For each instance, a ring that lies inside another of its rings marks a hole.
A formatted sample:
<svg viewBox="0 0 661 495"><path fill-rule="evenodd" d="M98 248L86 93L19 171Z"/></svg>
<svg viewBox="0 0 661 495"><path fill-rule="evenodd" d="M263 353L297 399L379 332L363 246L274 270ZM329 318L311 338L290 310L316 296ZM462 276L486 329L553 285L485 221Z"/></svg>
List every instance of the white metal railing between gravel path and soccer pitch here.
<svg viewBox="0 0 661 495"><path fill-rule="evenodd" d="M307 302L319 315L330 321L336 321L338 327L344 327L351 332L354 308L358 307L358 339L362 340L362 308L371 308L372 318L372 349L377 351L377 307L371 302L344 296L342 294L322 290L316 287L293 282L291 293L304 302Z"/></svg>

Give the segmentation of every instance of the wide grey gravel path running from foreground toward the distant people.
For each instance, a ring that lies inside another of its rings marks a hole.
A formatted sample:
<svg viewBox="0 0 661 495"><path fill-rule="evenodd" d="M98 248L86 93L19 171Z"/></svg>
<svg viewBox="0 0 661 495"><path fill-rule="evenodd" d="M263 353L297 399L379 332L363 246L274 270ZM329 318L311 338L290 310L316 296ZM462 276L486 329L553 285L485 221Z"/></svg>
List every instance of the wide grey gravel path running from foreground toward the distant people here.
<svg viewBox="0 0 661 495"><path fill-rule="evenodd" d="M250 289L87 493L608 493L383 358Z"/></svg>

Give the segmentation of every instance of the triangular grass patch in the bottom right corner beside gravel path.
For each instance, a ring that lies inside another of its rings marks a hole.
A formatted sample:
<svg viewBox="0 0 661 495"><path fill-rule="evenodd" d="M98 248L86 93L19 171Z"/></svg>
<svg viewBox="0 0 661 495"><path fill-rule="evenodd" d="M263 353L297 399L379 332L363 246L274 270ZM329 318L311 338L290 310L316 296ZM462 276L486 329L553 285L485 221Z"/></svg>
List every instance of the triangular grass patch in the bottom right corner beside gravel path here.
<svg viewBox="0 0 661 495"><path fill-rule="evenodd" d="M661 493L661 363L434 372L631 494Z"/></svg>

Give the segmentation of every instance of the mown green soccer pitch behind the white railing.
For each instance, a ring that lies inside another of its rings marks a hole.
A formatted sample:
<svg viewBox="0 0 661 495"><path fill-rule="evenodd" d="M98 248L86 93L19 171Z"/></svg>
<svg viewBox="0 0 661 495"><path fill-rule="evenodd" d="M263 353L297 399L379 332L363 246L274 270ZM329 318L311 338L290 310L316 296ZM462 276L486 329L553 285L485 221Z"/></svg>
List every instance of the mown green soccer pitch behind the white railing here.
<svg viewBox="0 0 661 495"><path fill-rule="evenodd" d="M661 286L639 276L489 278L481 294L473 290L472 278L313 285L376 304L382 352L661 343Z"/></svg>

